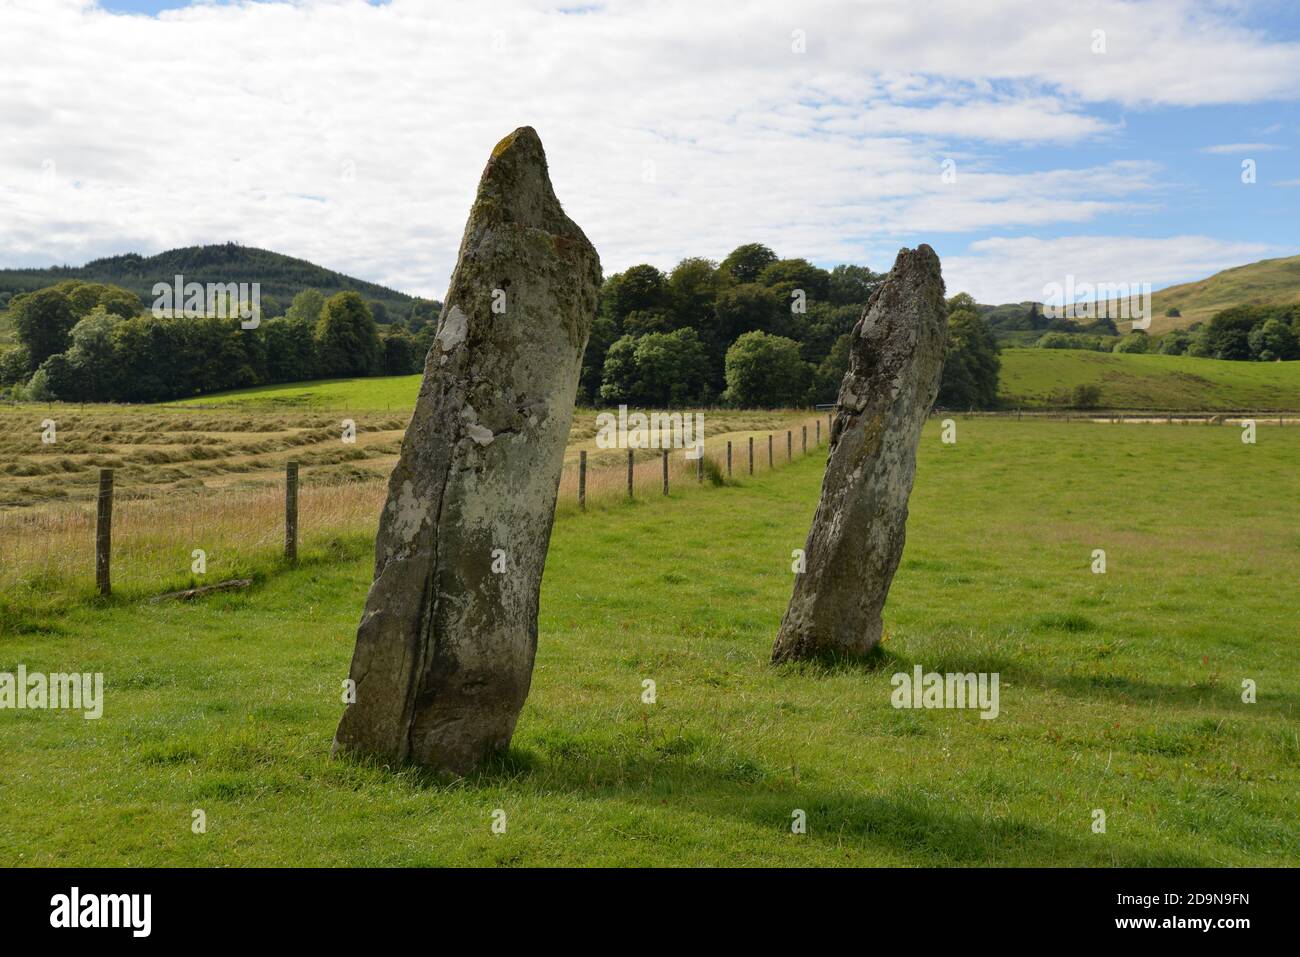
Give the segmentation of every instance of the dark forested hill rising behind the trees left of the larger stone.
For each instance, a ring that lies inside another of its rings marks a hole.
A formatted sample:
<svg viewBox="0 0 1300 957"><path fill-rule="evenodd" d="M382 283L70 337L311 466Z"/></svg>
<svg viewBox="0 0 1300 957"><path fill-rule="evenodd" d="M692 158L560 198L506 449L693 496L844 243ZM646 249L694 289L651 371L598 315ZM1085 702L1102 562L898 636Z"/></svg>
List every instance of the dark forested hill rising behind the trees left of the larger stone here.
<svg viewBox="0 0 1300 957"><path fill-rule="evenodd" d="M64 280L112 282L138 294L147 306L153 299L155 282L172 282L185 276L186 282L259 282L261 294L274 296L283 308L304 289L318 289L325 295L355 291L363 298L384 303L390 319L406 317L413 298L396 290L325 269L304 259L294 259L269 250L224 243L188 246L156 256L129 252L122 256L96 259L83 267L51 267L48 269L0 269L0 293L26 293Z"/></svg>

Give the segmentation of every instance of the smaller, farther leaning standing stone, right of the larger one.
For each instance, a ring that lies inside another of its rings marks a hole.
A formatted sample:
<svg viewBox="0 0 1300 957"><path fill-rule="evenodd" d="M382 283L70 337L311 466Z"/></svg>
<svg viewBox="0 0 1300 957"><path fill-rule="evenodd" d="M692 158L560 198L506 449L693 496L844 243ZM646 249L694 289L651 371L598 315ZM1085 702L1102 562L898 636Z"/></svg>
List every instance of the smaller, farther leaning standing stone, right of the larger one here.
<svg viewBox="0 0 1300 957"><path fill-rule="evenodd" d="M939 391L948 307L939 256L902 250L853 329L805 570L772 661L861 655L902 557L916 445Z"/></svg>

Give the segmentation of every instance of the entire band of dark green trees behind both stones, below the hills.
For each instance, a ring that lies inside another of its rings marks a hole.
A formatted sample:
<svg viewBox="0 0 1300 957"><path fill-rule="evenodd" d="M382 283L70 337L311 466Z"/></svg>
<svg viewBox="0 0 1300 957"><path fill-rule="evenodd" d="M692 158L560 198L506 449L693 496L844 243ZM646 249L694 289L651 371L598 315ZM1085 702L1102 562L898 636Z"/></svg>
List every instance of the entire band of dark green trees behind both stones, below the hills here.
<svg viewBox="0 0 1300 957"><path fill-rule="evenodd" d="M720 263L640 264L604 280L582 359L588 406L775 408L833 402L854 325L884 276L779 259L760 243ZM998 347L968 295L949 302L939 404L997 402ZM0 355L0 389L17 398L160 402L316 378L420 372L441 304L406 316L355 291L294 296L283 315L263 296L256 328L230 319L144 311L109 283L68 280L12 299L18 347ZM377 315L378 313L378 315Z"/></svg>

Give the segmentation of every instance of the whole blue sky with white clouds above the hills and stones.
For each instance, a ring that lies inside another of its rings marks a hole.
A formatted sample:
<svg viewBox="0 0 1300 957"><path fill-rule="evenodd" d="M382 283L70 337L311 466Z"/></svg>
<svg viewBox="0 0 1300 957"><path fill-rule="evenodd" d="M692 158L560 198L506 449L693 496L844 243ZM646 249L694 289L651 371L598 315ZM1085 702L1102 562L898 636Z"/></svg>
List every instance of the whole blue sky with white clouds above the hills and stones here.
<svg viewBox="0 0 1300 957"><path fill-rule="evenodd" d="M1009 302L1300 252L1291 0L0 0L0 267L235 241L441 296L521 125L607 274L928 242Z"/></svg>

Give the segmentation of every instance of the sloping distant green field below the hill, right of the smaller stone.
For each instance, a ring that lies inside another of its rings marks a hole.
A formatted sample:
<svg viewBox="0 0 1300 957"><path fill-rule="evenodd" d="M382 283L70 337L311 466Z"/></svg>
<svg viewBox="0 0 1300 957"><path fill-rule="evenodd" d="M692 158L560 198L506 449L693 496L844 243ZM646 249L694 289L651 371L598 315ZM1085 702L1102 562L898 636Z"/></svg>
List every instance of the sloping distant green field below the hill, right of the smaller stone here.
<svg viewBox="0 0 1300 957"><path fill-rule="evenodd" d="M1180 355L1074 348L1005 348L1000 397L1015 408L1046 407L1078 385L1101 387L1104 408L1300 410L1300 361L1238 363Z"/></svg>

